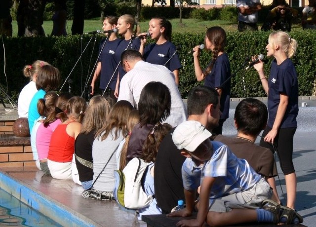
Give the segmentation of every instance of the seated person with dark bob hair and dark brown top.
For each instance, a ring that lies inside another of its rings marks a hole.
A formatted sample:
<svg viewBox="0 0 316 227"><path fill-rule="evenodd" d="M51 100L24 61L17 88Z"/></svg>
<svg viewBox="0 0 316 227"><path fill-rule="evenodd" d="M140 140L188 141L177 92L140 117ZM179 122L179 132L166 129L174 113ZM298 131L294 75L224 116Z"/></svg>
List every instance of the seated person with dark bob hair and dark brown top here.
<svg viewBox="0 0 316 227"><path fill-rule="evenodd" d="M130 135L126 161L140 157L148 133L153 127L165 120L170 114L171 95L166 85L161 82L149 82L141 91L138 113L139 122Z"/></svg>

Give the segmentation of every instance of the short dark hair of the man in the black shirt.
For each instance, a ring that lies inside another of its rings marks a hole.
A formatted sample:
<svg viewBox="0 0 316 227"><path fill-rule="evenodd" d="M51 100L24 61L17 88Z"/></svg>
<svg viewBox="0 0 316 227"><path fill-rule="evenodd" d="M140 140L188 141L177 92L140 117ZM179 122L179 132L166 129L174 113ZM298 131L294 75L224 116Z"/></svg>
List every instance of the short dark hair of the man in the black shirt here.
<svg viewBox="0 0 316 227"><path fill-rule="evenodd" d="M188 114L203 114L209 104L218 105L218 92L210 87L197 86L188 95Z"/></svg>

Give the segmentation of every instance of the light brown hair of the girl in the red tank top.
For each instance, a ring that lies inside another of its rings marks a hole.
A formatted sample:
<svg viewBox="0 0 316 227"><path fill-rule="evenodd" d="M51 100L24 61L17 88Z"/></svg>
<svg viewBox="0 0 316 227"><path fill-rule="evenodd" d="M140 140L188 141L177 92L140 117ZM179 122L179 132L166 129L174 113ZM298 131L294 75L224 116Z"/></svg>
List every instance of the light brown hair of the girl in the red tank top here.
<svg viewBox="0 0 316 227"><path fill-rule="evenodd" d="M85 100L79 96L72 97L66 107L68 119L75 118L77 122L82 121L87 104Z"/></svg>

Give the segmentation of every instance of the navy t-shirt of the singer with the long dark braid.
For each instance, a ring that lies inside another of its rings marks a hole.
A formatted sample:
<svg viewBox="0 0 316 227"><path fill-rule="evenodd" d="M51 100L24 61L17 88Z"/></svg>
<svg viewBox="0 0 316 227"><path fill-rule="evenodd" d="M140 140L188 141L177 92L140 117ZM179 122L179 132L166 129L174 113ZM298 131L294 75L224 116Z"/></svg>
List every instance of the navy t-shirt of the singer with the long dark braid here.
<svg viewBox="0 0 316 227"><path fill-rule="evenodd" d="M210 65L211 62L208 64ZM227 119L229 115L229 104L231 98L231 80L227 81L223 86L221 84L231 76L231 65L229 63L227 53L223 53L215 60L212 71L205 77L204 85L211 88L221 88L221 119ZM221 87L220 87L221 86Z"/></svg>

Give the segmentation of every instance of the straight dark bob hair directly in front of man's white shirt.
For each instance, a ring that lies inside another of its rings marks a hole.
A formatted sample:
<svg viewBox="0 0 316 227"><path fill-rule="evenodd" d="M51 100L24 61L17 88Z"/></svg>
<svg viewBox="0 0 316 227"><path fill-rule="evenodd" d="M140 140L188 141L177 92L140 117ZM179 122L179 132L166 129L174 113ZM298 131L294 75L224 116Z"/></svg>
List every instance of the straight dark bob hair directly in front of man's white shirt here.
<svg viewBox="0 0 316 227"><path fill-rule="evenodd" d="M138 113L140 126L157 124L170 115L171 95L161 82L149 82L140 93Z"/></svg>

